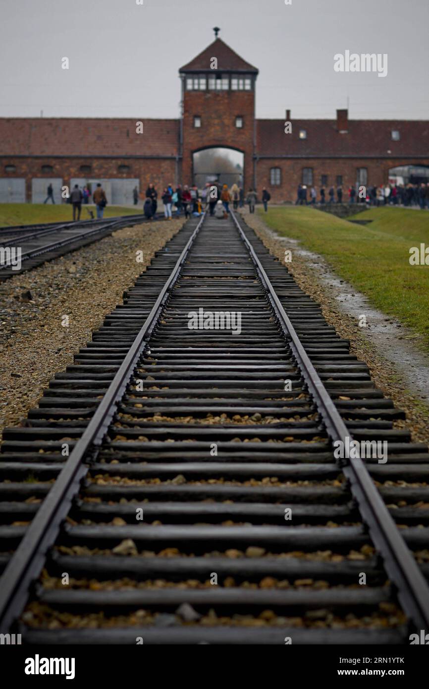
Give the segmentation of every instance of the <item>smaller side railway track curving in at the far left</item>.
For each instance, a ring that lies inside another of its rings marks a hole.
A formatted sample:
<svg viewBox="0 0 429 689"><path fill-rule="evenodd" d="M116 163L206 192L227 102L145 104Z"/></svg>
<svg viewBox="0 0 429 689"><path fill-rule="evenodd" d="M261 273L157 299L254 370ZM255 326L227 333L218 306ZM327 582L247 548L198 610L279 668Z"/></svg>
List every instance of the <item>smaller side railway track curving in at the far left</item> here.
<svg viewBox="0 0 429 689"><path fill-rule="evenodd" d="M159 215L160 217L160 215ZM143 214L117 216L104 220L79 220L70 223L42 223L0 228L0 282L23 271L58 258L70 251L98 241L116 229L147 223ZM19 263L17 262L19 247ZM9 254L6 254L6 252ZM12 253L13 252L13 253ZM12 256L12 260L10 259Z"/></svg>

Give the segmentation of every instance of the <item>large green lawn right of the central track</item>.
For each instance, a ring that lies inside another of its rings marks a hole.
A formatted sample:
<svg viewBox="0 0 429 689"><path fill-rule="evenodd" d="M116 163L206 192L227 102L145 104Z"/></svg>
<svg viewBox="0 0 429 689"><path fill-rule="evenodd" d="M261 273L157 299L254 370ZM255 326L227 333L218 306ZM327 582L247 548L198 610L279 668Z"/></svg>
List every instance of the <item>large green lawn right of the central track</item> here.
<svg viewBox="0 0 429 689"><path fill-rule="evenodd" d="M411 247L421 242L429 246L429 212L373 208L355 216L373 220L366 226L302 206L258 212L278 234L322 254L373 306L424 336L429 345L429 265L409 263Z"/></svg>

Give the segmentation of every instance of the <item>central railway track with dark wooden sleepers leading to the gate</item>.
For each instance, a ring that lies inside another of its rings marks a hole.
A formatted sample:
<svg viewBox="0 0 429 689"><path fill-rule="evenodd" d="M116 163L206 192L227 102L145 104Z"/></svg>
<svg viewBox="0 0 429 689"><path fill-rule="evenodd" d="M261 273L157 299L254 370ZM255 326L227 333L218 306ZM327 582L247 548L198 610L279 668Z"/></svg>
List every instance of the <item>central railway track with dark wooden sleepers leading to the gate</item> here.
<svg viewBox="0 0 429 689"><path fill-rule="evenodd" d="M234 327L189 328L200 309ZM241 218L192 218L3 434L0 632L409 643L429 455L402 418ZM348 438L388 461L335 459Z"/></svg>

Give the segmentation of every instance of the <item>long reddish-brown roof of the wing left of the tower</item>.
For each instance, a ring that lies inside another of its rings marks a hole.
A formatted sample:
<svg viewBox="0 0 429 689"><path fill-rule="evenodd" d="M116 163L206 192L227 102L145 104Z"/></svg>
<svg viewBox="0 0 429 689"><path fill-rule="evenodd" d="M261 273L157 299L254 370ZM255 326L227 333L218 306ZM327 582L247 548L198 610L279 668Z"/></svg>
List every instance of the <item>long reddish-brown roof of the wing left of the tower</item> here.
<svg viewBox="0 0 429 689"><path fill-rule="evenodd" d="M87 117L2 117L6 156L176 156L179 120Z"/></svg>

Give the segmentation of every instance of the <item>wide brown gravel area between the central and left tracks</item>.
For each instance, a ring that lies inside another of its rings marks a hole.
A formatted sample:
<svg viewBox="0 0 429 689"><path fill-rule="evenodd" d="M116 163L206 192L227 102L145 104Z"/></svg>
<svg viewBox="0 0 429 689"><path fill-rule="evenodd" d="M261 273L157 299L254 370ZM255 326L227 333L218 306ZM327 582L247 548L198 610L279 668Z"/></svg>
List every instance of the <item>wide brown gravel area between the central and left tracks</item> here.
<svg viewBox="0 0 429 689"><path fill-rule="evenodd" d="M0 429L22 422L57 371L122 302L183 220L125 227L0 285ZM136 251L143 251L137 263ZM69 326L61 325L63 316Z"/></svg>

